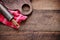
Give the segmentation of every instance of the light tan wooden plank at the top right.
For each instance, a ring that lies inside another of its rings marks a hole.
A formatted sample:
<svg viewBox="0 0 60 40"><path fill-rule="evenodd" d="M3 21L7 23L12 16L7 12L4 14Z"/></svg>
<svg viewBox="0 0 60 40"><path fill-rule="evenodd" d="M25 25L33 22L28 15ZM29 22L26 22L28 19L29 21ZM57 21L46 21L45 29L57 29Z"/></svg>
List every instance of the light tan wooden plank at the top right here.
<svg viewBox="0 0 60 40"><path fill-rule="evenodd" d="M32 5L37 10L60 10L60 0L32 0Z"/></svg>

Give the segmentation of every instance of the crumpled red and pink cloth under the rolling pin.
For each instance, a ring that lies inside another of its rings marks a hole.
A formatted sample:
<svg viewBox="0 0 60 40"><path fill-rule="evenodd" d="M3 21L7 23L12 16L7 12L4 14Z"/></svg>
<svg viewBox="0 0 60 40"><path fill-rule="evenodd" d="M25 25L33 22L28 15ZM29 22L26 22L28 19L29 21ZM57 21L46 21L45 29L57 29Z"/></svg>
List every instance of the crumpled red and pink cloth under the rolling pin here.
<svg viewBox="0 0 60 40"><path fill-rule="evenodd" d="M27 16L24 16L21 14L21 12L19 10L9 10L10 13L14 16L14 19L16 20L16 22L18 24L20 24L22 21L26 20L27 19ZM12 27L12 28L15 28L15 29L18 29L11 21L8 21L3 15L2 13L0 13L0 22L9 26L9 27Z"/></svg>

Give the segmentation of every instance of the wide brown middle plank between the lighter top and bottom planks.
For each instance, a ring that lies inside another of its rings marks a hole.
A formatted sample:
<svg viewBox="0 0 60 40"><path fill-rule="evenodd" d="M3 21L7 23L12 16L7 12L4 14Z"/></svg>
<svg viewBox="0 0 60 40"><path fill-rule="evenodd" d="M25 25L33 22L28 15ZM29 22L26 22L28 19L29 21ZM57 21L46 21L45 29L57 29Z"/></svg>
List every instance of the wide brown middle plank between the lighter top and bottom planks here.
<svg viewBox="0 0 60 40"><path fill-rule="evenodd" d="M0 24L0 31L15 31ZM60 31L60 10L34 10L19 31Z"/></svg>

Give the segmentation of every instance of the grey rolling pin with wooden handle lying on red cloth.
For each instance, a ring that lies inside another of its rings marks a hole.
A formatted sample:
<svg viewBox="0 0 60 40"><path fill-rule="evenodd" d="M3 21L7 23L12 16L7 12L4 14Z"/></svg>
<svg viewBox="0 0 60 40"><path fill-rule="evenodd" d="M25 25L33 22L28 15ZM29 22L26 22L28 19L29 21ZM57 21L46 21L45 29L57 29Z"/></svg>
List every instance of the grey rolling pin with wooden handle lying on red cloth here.
<svg viewBox="0 0 60 40"><path fill-rule="evenodd" d="M0 3L0 12L3 14L3 16L11 21L17 28L19 28L19 24L14 20L14 16L8 11L8 9Z"/></svg>

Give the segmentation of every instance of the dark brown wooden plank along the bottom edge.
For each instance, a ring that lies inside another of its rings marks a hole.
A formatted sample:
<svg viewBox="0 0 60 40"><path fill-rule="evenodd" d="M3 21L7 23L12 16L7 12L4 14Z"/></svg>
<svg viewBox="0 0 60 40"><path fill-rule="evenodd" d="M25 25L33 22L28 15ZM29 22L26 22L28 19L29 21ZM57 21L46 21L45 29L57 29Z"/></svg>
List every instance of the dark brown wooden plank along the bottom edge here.
<svg viewBox="0 0 60 40"><path fill-rule="evenodd" d="M60 40L60 32L1 32L0 40Z"/></svg>

